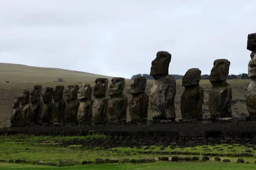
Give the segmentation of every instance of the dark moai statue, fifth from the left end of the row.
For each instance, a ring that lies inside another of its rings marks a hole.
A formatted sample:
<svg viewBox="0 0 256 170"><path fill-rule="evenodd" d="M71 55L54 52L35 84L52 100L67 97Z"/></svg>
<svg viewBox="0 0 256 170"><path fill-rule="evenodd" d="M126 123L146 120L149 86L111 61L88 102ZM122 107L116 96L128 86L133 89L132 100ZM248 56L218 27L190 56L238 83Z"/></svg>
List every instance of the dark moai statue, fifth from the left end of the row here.
<svg viewBox="0 0 256 170"><path fill-rule="evenodd" d="M64 86L56 86L53 92L53 108L49 117L49 123L62 124L64 123L64 112L66 102L63 100Z"/></svg>

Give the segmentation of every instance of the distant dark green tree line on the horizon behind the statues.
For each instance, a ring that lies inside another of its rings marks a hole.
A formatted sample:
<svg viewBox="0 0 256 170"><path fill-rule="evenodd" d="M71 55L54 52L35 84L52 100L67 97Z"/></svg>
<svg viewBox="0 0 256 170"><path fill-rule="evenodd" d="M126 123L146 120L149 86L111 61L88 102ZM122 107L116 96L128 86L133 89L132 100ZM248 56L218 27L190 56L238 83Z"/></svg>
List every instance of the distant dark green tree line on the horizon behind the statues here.
<svg viewBox="0 0 256 170"><path fill-rule="evenodd" d="M149 74L136 74L136 75L133 75L131 77L131 79L133 80L133 79L135 79L136 77L139 77L139 76L143 76L147 80L154 80L154 78ZM176 80L181 80L183 78L183 75L179 75L179 74L171 74L171 76L174 77L174 79L176 79ZM208 74L201 75L201 80L209 80L209 79L210 79L210 75L208 75ZM238 74L238 75L230 74L230 75L227 75L227 79L228 80L231 80L231 79L248 79L248 74L246 74L246 73L242 73L242 74Z"/></svg>

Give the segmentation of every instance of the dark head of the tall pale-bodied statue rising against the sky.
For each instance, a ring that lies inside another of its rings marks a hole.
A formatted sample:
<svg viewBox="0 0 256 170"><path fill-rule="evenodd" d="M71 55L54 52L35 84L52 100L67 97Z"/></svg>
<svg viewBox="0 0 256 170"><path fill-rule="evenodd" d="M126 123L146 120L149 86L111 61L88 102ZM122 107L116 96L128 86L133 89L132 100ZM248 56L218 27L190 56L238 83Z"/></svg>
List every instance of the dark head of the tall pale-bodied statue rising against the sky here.
<svg viewBox="0 0 256 170"><path fill-rule="evenodd" d="M152 61L150 75L154 79L166 77L169 73L169 64L171 62L172 55L167 51L158 51L155 60Z"/></svg>

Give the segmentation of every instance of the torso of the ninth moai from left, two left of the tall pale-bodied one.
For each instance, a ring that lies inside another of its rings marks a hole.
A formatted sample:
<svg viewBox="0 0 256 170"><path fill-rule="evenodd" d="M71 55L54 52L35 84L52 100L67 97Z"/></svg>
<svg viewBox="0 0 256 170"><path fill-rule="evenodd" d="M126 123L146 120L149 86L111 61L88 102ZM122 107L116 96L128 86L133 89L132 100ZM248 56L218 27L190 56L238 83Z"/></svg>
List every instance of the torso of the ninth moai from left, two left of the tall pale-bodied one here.
<svg viewBox="0 0 256 170"><path fill-rule="evenodd" d="M108 121L126 121L127 96L111 95L107 106Z"/></svg>

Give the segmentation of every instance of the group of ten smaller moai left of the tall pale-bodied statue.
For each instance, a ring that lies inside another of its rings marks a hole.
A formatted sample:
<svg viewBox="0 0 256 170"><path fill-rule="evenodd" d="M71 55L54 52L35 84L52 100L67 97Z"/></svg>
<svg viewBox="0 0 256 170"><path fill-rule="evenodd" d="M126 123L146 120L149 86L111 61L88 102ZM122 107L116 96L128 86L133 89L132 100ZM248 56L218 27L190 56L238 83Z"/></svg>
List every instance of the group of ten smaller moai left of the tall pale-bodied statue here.
<svg viewBox="0 0 256 170"><path fill-rule="evenodd" d="M84 83L70 85L62 98L64 86L55 89L46 87L41 101L41 85L35 85L33 91L23 91L23 95L16 97L13 102L12 126L35 124L63 124L63 123L115 123L127 120L127 96L123 94L124 78L113 78L106 96L108 79L98 78L95 81L94 96L91 99L92 88ZM138 77L131 85L132 100L129 113L132 121L146 121L148 95L145 93L146 78ZM19 107L19 103L22 107Z"/></svg>

